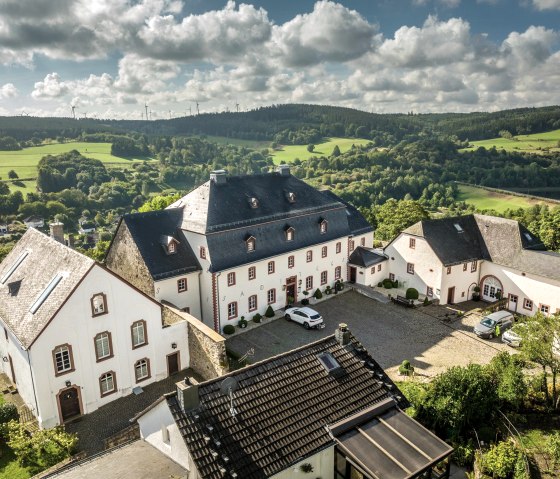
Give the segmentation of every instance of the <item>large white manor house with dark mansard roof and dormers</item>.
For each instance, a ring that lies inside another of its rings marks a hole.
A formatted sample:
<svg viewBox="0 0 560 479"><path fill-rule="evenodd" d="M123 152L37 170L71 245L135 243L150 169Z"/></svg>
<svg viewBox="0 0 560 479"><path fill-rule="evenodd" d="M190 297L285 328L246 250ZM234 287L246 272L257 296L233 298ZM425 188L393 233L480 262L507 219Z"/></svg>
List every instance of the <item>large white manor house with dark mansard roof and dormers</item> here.
<svg viewBox="0 0 560 479"><path fill-rule="evenodd" d="M125 215L107 266L157 300L222 331L354 280L348 257L372 246L356 208L290 174L215 171L163 211Z"/></svg>

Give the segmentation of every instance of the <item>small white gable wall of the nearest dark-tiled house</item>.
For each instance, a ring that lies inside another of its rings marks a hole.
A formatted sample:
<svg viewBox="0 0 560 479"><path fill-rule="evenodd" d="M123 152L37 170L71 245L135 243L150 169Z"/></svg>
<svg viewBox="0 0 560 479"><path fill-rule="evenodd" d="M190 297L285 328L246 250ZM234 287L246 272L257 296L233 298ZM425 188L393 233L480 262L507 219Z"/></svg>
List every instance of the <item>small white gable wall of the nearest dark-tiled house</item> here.
<svg viewBox="0 0 560 479"><path fill-rule="evenodd" d="M183 466L189 471L189 478L197 477L197 475L192 475L196 469L191 464L192 459L190 458L187 445L175 424L165 399L140 416L137 422L142 439L167 457L173 459L177 464ZM167 428L169 431L168 443L163 439L162 429L164 428Z"/></svg>

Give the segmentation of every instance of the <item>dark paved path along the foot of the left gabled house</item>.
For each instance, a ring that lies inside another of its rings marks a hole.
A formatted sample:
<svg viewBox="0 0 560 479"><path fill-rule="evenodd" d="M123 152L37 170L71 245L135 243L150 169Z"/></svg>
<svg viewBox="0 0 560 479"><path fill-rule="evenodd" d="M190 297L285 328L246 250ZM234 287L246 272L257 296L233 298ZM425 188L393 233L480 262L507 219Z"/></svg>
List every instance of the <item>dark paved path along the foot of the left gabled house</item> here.
<svg viewBox="0 0 560 479"><path fill-rule="evenodd" d="M186 375L192 376L193 373L185 369L156 383L142 386L143 393L133 393L111 401L76 422L66 424L66 431L78 434L79 450L88 455L100 452L104 449L105 439L130 426L131 418L165 393L174 391L175 383Z"/></svg>

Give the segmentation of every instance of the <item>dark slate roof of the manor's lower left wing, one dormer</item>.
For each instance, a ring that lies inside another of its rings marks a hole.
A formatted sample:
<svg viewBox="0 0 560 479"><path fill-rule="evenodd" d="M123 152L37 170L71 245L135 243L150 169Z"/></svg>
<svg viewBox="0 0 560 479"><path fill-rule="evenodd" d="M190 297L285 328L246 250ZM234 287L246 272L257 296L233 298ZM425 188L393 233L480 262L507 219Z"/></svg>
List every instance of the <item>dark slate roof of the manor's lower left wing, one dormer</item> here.
<svg viewBox="0 0 560 479"><path fill-rule="evenodd" d="M155 280L201 269L180 229L182 218L181 208L135 213L122 218ZM177 240L174 254L167 254L163 247L169 242L169 237Z"/></svg>

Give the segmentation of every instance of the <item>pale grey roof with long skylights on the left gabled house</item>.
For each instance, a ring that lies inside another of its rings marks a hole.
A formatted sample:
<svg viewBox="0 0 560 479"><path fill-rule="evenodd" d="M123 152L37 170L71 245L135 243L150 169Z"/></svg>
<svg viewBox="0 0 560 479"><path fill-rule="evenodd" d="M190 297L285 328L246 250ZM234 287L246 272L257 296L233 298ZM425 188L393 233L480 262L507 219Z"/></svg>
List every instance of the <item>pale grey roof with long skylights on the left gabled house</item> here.
<svg viewBox="0 0 560 479"><path fill-rule="evenodd" d="M30 228L0 263L0 279L25 253L21 264L0 284L0 318L23 346L29 347L95 262ZM32 314L30 307L59 273L62 279Z"/></svg>

